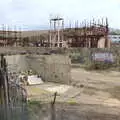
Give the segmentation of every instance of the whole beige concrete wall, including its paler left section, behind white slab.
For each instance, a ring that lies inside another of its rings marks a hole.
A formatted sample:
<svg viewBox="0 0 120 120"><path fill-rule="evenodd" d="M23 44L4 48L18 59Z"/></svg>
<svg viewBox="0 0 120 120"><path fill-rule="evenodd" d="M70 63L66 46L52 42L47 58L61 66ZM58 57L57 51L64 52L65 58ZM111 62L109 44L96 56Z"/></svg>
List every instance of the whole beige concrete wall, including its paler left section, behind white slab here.
<svg viewBox="0 0 120 120"><path fill-rule="evenodd" d="M32 69L47 82L69 84L71 79L71 63L66 55L11 55L6 60L12 72Z"/></svg>

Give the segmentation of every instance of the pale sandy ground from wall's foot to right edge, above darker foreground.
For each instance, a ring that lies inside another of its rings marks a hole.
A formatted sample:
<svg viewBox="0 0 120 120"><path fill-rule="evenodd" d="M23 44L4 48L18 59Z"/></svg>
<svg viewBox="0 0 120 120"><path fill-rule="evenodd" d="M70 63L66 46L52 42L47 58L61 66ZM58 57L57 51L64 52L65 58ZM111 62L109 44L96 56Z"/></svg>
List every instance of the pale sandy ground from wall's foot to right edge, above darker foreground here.
<svg viewBox="0 0 120 120"><path fill-rule="evenodd" d="M84 104L106 104L120 107L119 72L95 72L72 68L70 85L46 82L41 85L27 86L28 94L57 92L59 99L72 100Z"/></svg>

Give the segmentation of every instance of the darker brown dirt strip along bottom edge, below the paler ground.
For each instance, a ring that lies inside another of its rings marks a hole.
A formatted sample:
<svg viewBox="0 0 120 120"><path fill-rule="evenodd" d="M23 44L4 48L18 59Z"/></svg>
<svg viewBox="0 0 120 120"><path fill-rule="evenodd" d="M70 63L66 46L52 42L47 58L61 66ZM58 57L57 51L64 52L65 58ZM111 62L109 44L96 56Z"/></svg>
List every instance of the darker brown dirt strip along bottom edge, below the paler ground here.
<svg viewBox="0 0 120 120"><path fill-rule="evenodd" d="M109 108L99 105L55 104L53 108L49 104L38 104L30 105L30 108L30 120L120 120L119 114L103 112Z"/></svg>

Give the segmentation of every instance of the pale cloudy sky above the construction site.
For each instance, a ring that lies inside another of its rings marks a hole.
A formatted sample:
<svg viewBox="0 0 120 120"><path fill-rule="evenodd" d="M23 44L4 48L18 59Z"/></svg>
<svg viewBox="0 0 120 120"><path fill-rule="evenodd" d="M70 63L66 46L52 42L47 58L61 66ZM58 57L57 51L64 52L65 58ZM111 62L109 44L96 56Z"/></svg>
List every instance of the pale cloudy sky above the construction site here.
<svg viewBox="0 0 120 120"><path fill-rule="evenodd" d="M120 28L120 0L0 0L0 25L45 29L51 16L69 22L108 18L109 27Z"/></svg>

